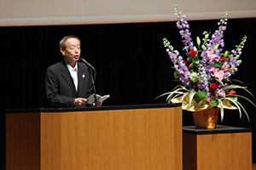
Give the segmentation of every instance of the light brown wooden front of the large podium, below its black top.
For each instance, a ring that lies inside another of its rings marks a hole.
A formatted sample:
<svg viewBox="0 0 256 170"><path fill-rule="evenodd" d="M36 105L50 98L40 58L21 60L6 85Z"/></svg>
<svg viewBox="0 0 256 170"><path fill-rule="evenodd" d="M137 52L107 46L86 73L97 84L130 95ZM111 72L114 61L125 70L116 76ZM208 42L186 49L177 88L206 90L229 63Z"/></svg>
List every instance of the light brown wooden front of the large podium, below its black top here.
<svg viewBox="0 0 256 170"><path fill-rule="evenodd" d="M182 169L181 114L180 108L44 113L41 157L49 159L42 169Z"/></svg>

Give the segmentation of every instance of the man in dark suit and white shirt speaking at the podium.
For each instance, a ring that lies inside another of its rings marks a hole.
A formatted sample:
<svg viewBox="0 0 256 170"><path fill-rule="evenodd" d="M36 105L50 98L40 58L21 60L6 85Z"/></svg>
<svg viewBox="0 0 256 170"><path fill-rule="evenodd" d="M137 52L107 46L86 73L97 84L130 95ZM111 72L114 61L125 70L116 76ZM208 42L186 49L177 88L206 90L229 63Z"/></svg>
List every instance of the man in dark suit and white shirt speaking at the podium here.
<svg viewBox="0 0 256 170"><path fill-rule="evenodd" d="M85 106L93 94L93 85L87 65L77 62L81 42L78 37L64 37L60 42L64 59L49 66L45 77L46 99L52 107Z"/></svg>

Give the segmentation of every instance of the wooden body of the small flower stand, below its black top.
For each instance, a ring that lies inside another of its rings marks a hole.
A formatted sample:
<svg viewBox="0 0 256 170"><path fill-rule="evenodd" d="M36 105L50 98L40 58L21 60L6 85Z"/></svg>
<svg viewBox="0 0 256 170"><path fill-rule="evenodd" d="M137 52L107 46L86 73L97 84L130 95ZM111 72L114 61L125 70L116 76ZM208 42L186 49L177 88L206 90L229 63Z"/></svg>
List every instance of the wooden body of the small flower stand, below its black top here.
<svg viewBox="0 0 256 170"><path fill-rule="evenodd" d="M186 143L183 145L193 147L190 150L183 148L183 154L191 156L191 159L188 156L183 159L184 170L252 169L252 133L183 134L183 136L187 139L183 140ZM189 165L194 166L189 167Z"/></svg>

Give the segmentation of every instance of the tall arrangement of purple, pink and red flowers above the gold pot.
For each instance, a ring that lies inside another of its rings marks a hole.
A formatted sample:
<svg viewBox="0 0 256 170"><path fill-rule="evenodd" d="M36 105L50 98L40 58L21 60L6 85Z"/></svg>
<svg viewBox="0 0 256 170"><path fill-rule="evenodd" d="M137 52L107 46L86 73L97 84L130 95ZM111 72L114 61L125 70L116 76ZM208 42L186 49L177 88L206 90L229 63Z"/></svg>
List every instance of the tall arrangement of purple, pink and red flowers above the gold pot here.
<svg viewBox="0 0 256 170"><path fill-rule="evenodd" d="M195 47L191 33L189 32L188 21L185 15L178 10L175 5L175 15L177 16L177 28L182 37L183 51L187 58L184 59L171 43L164 38L166 52L170 56L174 65L174 77L181 84L163 95L168 95L168 103L181 102L183 110L201 111L206 110L209 106L220 108L221 121L224 118L224 109L238 110L241 117L241 110L245 112L249 121L247 111L238 102L238 98L247 99L236 94L234 89L241 88L251 94L247 87L231 84L239 82L231 80L230 76L234 75L241 65L241 49L243 48L247 37L241 39L241 43L231 51L224 51L224 31L227 26L227 12L218 22L218 30L212 37L208 31L203 32L203 38L196 38L197 48ZM210 38L211 37L211 38ZM253 96L253 94L251 94ZM253 102L247 99L250 103ZM253 104L254 105L254 104ZM256 105L254 105L256 107Z"/></svg>

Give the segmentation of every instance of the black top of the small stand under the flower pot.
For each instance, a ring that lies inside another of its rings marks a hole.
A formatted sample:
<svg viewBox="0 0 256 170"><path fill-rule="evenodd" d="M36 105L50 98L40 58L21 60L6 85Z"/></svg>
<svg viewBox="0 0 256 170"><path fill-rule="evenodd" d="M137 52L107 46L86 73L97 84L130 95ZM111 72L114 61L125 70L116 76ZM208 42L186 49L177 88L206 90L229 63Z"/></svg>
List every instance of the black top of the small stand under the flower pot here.
<svg viewBox="0 0 256 170"><path fill-rule="evenodd" d="M195 126L184 126L183 133L190 134L217 134L217 133L251 133L252 129L247 127L230 127L224 125L217 125L216 128L207 129L207 128L196 128Z"/></svg>

